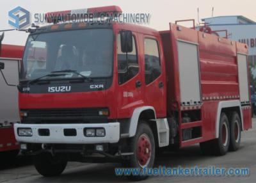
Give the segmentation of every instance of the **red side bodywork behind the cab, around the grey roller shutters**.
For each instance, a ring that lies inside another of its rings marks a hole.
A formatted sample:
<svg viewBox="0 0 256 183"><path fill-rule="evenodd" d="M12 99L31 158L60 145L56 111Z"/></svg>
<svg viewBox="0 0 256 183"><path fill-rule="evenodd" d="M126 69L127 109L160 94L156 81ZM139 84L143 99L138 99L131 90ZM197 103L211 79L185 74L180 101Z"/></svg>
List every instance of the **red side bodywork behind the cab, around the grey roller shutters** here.
<svg viewBox="0 0 256 183"><path fill-rule="evenodd" d="M164 58L166 59L167 109L179 111L180 119L182 111L189 111L198 107L202 112L202 120L198 122L187 125L182 124L181 120L179 121L180 134L182 129L202 126L202 138L182 142L180 137L180 146L183 147L216 138L216 119L219 102L240 99L237 53L248 54L247 46L216 35L177 26L176 24L170 24L170 31L161 31L160 34L163 40ZM182 107L177 40L198 45L202 92L202 105L200 106ZM242 107L242 109L243 125L244 130L246 130L252 127L251 110L250 107Z"/></svg>

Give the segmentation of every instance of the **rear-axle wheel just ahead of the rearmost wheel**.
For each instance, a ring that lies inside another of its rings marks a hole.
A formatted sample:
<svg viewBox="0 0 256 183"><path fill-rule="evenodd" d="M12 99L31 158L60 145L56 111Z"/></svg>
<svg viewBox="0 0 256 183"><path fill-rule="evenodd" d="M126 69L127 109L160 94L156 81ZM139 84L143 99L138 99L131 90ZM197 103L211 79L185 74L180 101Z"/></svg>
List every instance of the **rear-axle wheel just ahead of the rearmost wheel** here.
<svg viewBox="0 0 256 183"><path fill-rule="evenodd" d="M219 126L219 138L212 141L212 148L214 155L227 154L230 143L230 128L228 118L225 113L221 113L220 126Z"/></svg>

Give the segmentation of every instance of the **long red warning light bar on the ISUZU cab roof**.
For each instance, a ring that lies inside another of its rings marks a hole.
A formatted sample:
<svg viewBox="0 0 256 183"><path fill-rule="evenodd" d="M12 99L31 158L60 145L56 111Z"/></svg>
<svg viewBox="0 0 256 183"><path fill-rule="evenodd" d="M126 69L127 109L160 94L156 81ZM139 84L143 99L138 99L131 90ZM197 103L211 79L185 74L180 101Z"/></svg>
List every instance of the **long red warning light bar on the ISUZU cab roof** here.
<svg viewBox="0 0 256 183"><path fill-rule="evenodd" d="M115 14L115 13L122 13L122 9L119 6L101 6L95 8L84 8L79 10L65 10L60 12L48 12L45 14L45 20L48 23L58 23L59 19L61 20L70 20L72 14Z"/></svg>

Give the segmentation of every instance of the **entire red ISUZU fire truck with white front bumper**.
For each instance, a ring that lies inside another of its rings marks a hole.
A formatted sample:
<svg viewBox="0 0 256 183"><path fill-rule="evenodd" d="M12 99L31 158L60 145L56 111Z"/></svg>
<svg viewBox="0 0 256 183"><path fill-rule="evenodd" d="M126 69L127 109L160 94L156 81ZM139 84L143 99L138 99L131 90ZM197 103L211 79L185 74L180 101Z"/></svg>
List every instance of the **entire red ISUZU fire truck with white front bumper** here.
<svg viewBox="0 0 256 183"><path fill-rule="evenodd" d="M15 137L40 174L67 161L151 168L164 147L239 148L252 127L247 45L177 24L58 23L60 13L76 11L31 31L20 68Z"/></svg>

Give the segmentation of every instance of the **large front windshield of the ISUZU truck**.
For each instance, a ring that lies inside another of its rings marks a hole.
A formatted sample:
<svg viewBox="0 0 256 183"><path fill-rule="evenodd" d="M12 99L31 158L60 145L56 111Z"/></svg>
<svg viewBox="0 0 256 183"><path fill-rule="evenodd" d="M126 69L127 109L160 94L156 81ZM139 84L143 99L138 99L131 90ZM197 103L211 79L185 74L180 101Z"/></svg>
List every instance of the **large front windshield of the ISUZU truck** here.
<svg viewBox="0 0 256 183"><path fill-rule="evenodd" d="M80 75L68 72L58 78L110 77L113 31L81 29L29 36L20 79L36 79L60 70L76 70Z"/></svg>

